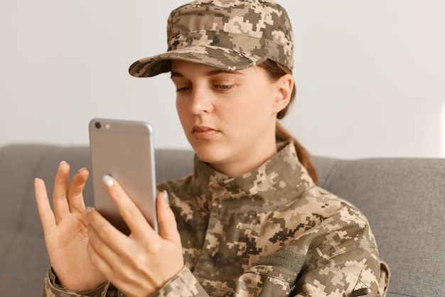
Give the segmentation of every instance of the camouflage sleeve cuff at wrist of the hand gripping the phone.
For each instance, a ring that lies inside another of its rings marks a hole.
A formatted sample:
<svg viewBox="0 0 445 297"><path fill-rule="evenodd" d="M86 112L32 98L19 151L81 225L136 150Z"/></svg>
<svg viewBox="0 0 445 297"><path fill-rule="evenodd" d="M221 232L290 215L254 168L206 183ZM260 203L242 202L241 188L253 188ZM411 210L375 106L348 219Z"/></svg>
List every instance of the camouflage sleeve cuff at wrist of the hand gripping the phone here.
<svg viewBox="0 0 445 297"><path fill-rule="evenodd" d="M154 293L152 297L206 297L203 287L198 283L198 280L193 276L190 269L186 266L181 271L173 276L159 291Z"/></svg>

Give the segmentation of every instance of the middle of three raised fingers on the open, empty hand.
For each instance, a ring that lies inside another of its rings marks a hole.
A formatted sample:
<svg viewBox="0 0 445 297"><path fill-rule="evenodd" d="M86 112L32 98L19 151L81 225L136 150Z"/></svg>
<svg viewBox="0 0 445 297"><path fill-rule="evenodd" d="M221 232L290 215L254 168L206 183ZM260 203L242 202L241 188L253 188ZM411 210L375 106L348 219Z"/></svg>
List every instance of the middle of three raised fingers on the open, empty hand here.
<svg viewBox="0 0 445 297"><path fill-rule="evenodd" d="M68 189L68 176L70 174L70 165L67 162L62 161L55 174L54 192L53 192L53 204L55 221L59 222L64 214L70 212L67 200Z"/></svg>

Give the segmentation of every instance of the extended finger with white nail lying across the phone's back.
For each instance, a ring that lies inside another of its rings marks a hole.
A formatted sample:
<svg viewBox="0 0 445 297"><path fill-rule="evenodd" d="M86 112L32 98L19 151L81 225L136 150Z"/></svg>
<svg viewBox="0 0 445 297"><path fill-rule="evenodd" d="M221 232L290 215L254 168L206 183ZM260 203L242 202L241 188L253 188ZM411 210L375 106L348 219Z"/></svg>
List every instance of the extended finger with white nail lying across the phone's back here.
<svg viewBox="0 0 445 297"><path fill-rule="evenodd" d="M121 214L122 219L124 219L132 235L139 236L146 232L153 232L153 234L149 234L150 236L156 234L139 208L134 204L132 199L128 197L116 179L105 175L103 181L109 197L111 197L114 204L116 204L117 209L119 209L119 214Z"/></svg>

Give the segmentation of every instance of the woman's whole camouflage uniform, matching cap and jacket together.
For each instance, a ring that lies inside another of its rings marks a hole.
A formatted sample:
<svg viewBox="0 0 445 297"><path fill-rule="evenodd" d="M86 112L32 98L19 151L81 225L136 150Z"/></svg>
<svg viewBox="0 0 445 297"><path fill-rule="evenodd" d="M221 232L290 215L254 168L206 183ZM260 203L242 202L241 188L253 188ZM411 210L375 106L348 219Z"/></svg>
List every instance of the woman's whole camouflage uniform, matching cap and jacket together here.
<svg viewBox="0 0 445 297"><path fill-rule="evenodd" d="M289 70L294 37L286 11L267 0L193 1L171 12L168 50L129 67L136 77L171 60L240 70L267 59ZM154 294L173 296L384 296L374 236L363 214L313 183L294 145L257 170L227 177L195 159L193 174L159 184L181 234L185 266ZM75 294L51 271L43 296L122 296L105 283Z"/></svg>

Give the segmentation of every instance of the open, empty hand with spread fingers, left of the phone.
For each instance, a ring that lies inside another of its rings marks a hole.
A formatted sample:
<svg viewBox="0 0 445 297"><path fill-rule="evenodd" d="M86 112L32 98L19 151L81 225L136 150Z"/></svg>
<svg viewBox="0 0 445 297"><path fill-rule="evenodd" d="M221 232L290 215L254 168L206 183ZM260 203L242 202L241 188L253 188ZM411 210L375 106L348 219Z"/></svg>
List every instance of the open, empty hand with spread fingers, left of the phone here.
<svg viewBox="0 0 445 297"><path fill-rule="evenodd" d="M34 183L38 214L51 266L60 284L69 291L85 292L99 287L106 278L92 265L87 254L88 232L82 191L88 170L79 170L68 186L70 165L61 162L55 175L53 207L45 182Z"/></svg>

